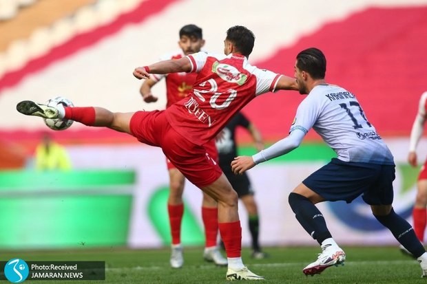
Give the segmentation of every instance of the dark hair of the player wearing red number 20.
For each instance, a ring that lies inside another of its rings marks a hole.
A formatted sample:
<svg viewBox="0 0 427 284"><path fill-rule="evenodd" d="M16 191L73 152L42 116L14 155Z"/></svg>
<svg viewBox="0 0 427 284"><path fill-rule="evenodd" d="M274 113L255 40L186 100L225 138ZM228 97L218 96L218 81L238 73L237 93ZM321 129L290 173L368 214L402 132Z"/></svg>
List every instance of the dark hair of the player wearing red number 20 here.
<svg viewBox="0 0 427 284"><path fill-rule="evenodd" d="M255 36L251 30L242 25L235 25L227 30L227 41L231 41L236 50L246 57L252 53Z"/></svg>

